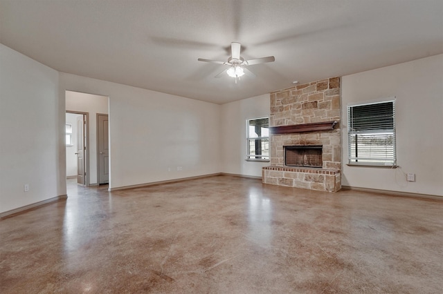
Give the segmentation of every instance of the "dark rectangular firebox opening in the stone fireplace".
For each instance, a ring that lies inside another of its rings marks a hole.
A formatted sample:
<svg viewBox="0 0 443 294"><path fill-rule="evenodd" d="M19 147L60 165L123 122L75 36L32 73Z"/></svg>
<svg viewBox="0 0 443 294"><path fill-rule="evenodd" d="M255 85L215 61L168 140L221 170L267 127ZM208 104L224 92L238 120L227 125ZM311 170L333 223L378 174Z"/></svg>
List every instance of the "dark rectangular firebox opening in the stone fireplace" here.
<svg viewBox="0 0 443 294"><path fill-rule="evenodd" d="M323 167L322 145L283 146L285 166Z"/></svg>

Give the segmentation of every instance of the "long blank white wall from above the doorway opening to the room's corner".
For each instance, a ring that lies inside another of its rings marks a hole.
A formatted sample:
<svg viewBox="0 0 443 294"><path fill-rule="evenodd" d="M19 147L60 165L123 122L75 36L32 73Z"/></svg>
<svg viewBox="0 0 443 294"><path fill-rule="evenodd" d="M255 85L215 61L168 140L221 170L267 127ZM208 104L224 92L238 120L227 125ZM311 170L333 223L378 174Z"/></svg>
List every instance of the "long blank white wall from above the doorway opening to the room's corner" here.
<svg viewBox="0 0 443 294"><path fill-rule="evenodd" d="M221 106L60 72L65 90L109 97L109 188L219 173Z"/></svg>

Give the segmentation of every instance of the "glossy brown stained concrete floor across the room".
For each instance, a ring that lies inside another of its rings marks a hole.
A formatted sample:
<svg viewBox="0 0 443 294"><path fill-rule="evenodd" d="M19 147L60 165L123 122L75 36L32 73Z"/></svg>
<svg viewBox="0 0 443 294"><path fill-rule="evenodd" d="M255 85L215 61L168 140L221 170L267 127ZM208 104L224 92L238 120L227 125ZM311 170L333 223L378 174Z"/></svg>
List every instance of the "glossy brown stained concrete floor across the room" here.
<svg viewBox="0 0 443 294"><path fill-rule="evenodd" d="M232 176L0 221L0 293L442 293L443 201Z"/></svg>

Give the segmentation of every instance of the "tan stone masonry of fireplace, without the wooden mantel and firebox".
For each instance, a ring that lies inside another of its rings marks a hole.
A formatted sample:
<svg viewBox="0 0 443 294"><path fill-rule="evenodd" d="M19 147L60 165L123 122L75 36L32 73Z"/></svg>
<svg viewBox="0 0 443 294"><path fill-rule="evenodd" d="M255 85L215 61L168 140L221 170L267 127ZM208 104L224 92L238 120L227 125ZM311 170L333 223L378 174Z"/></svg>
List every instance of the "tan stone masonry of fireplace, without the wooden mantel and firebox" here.
<svg viewBox="0 0 443 294"><path fill-rule="evenodd" d="M263 182L331 192L340 190L340 109L340 77L271 92L269 126L290 126L321 121L337 121L338 124L334 130L270 135L271 166L263 168ZM293 167L285 167L284 145L323 145L323 169L298 168L297 171L292 171L290 169ZM281 167L283 170L275 170L275 167ZM332 179L326 181L325 170L334 171L331 174L334 181ZM283 171L284 173L282 173ZM313 177L313 174L318 175Z"/></svg>

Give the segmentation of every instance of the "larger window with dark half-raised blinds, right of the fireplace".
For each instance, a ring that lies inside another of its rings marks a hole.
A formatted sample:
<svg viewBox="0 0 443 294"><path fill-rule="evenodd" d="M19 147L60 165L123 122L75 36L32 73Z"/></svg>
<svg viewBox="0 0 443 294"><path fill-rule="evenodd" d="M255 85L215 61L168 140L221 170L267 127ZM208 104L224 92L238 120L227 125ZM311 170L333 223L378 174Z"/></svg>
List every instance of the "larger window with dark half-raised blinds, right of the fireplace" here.
<svg viewBox="0 0 443 294"><path fill-rule="evenodd" d="M395 166L395 100L347 106L349 164Z"/></svg>

